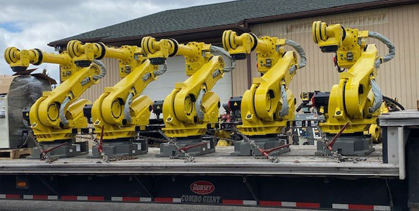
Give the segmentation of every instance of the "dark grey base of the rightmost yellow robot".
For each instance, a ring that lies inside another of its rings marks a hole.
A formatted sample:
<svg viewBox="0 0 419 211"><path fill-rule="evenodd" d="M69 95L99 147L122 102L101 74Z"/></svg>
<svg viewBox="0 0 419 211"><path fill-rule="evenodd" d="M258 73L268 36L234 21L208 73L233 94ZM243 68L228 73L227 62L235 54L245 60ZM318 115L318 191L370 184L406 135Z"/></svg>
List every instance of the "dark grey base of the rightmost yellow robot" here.
<svg viewBox="0 0 419 211"><path fill-rule="evenodd" d="M333 136L328 134L327 138L332 140ZM372 153L374 148L372 147L371 136L365 136L363 134L342 134L336 139L333 150L341 155L365 156ZM330 155L330 151L327 151L327 154ZM317 152L315 155L324 155L323 141L317 141Z"/></svg>

